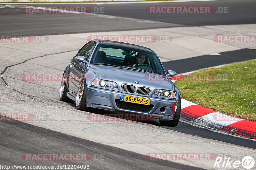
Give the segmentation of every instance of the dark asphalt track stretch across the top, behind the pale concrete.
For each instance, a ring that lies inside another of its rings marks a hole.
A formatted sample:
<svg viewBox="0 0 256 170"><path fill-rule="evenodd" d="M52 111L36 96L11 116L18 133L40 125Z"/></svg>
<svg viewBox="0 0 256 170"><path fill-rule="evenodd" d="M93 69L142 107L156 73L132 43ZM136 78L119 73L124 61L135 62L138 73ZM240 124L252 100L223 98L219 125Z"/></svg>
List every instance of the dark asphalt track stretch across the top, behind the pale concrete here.
<svg viewBox="0 0 256 170"><path fill-rule="evenodd" d="M254 0L139 4L32 4L32 6L90 7L92 12L95 13L97 10L94 10L94 7L103 7L104 13L101 13L102 15L105 15L105 17L109 15L116 16L116 18L105 19L104 17L99 18L95 15L87 14L23 14L21 10L22 8L6 7L0 8L1 35L53 35L82 32L153 29L177 26L256 23L256 1ZM147 13L146 8L148 6L211 6L215 9L218 9L218 7L228 7L228 13L156 14ZM135 20L126 20L123 17L133 18Z"/></svg>

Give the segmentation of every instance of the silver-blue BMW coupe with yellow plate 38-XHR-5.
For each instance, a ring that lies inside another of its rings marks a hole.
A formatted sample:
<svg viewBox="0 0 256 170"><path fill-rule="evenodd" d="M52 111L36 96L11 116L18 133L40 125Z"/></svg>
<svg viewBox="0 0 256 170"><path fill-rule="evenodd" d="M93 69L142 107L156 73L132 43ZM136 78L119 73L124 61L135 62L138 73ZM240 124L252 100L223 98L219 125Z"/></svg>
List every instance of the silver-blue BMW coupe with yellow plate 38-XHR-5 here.
<svg viewBox="0 0 256 170"><path fill-rule="evenodd" d="M151 49L128 43L92 40L65 68L60 100L76 109L149 115L163 126L177 126L180 91Z"/></svg>

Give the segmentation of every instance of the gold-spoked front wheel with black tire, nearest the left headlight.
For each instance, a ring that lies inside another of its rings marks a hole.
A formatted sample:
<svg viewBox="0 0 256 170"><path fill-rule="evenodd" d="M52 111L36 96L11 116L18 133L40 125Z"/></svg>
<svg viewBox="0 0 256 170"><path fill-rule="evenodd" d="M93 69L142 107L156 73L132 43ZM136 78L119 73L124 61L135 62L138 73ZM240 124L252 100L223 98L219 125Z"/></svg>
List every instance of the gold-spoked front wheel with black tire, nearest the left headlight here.
<svg viewBox="0 0 256 170"><path fill-rule="evenodd" d="M77 93L76 93L76 109L87 111L86 107L86 81L83 77L79 83Z"/></svg>

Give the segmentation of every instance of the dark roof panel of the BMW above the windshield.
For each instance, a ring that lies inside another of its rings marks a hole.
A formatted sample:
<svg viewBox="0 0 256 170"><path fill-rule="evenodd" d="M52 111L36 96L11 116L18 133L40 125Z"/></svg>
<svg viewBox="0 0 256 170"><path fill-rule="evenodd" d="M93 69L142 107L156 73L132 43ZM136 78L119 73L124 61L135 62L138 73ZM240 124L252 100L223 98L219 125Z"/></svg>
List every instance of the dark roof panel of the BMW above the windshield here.
<svg viewBox="0 0 256 170"><path fill-rule="evenodd" d="M150 48L147 48L147 47L144 47L144 46L138 46L138 45L135 45L135 44L129 44L129 43L118 42L118 41L103 40L103 39L93 39L92 41L99 42L99 44L102 44L102 45L133 48L133 49L136 49L136 50L143 50L143 51L154 53L153 50L151 50Z"/></svg>

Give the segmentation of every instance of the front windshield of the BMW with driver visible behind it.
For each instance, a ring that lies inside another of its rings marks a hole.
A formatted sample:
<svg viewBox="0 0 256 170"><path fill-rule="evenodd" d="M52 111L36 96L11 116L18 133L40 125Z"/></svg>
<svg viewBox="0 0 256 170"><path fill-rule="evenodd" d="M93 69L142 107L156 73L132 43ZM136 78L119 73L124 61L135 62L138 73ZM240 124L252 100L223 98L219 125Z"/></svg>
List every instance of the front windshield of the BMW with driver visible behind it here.
<svg viewBox="0 0 256 170"><path fill-rule="evenodd" d="M118 46L99 45L90 64L114 65L164 74L161 62L154 53Z"/></svg>

